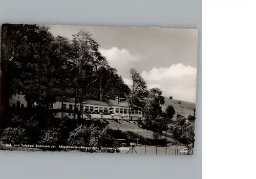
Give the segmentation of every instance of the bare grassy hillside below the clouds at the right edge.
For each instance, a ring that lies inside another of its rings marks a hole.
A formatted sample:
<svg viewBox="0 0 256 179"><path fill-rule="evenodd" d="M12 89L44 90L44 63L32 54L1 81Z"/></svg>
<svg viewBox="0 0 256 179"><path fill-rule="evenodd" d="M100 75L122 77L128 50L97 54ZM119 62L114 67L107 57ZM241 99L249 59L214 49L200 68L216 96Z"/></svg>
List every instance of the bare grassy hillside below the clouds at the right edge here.
<svg viewBox="0 0 256 179"><path fill-rule="evenodd" d="M167 106L172 105L176 111L176 114L183 114L184 116L188 116L189 114L193 115L194 114L194 109L196 109L196 104L194 103L189 103L187 101L181 101L181 104L178 104L177 99L169 99L167 97L164 97L164 105L162 106L163 111L167 108ZM182 113L183 110L183 113Z"/></svg>

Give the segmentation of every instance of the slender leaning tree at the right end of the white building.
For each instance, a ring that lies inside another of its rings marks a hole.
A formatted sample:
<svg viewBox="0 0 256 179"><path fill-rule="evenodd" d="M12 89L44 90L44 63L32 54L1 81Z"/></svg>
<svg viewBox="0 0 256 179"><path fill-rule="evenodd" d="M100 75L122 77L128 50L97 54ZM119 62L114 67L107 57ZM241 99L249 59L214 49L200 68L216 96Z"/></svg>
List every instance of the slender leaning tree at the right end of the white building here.
<svg viewBox="0 0 256 179"><path fill-rule="evenodd" d="M146 104L146 98L148 95L147 84L141 77L140 73L135 68L131 68L130 74L132 78L132 86L131 92L127 96L127 103L129 107L128 120L130 120L130 115L133 111L142 111Z"/></svg>

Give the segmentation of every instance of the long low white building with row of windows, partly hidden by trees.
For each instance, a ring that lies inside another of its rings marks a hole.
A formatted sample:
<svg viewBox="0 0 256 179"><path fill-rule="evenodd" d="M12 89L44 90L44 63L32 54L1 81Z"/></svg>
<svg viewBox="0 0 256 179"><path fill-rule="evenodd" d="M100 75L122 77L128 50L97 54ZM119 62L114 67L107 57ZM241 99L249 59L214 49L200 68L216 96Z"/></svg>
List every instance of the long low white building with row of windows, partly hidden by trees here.
<svg viewBox="0 0 256 179"><path fill-rule="evenodd" d="M19 101L19 102L18 102ZM27 101L24 95L13 95L10 99L10 106L17 107L22 104L22 108L27 107ZM97 100L86 100L82 103L77 103L78 110L84 111L91 115L92 118L111 118L111 119L123 119L127 120L129 116L129 108L126 102L119 102L118 100L108 100L108 101L97 101ZM52 109L61 109L61 100L58 99L56 103L52 104ZM62 109L75 109L74 99L63 100ZM66 115L68 117L73 117L74 113L57 112L56 117L61 117L61 115ZM88 118L86 114L82 114L82 118ZM130 115L130 120L142 119L142 113L140 111L132 112Z"/></svg>

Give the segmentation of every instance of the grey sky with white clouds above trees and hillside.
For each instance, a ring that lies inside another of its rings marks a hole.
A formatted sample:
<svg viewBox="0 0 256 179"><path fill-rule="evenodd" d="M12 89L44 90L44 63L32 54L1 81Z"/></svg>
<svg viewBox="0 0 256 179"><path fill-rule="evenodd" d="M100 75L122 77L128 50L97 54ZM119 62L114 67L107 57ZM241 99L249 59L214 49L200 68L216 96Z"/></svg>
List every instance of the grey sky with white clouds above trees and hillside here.
<svg viewBox="0 0 256 179"><path fill-rule="evenodd" d="M198 31L196 29L90 27L53 25L54 35L72 39L89 31L100 53L116 68L127 85L130 68L140 72L148 89L158 87L164 96L196 103Z"/></svg>

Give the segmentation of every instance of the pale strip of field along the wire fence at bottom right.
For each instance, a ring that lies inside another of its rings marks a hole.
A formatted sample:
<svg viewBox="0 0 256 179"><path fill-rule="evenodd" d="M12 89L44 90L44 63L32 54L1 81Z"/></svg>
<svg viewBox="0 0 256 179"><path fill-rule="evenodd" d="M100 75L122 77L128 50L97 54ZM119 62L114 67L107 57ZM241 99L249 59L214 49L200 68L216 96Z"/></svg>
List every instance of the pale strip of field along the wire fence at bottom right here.
<svg viewBox="0 0 256 179"><path fill-rule="evenodd" d="M126 147L131 149L132 147ZM146 155L175 155L175 145L172 146L167 146L166 148L161 146L161 147L156 147L156 146L135 146L135 150L137 151L137 155L145 155L145 148L146 148ZM178 155L184 155L180 153L180 150L182 150L184 146L178 146L177 145L177 150L178 150ZM132 150L128 153L130 155L134 154L136 155L135 150ZM129 150L120 150L121 154L126 154ZM166 154L165 154L166 151Z"/></svg>

